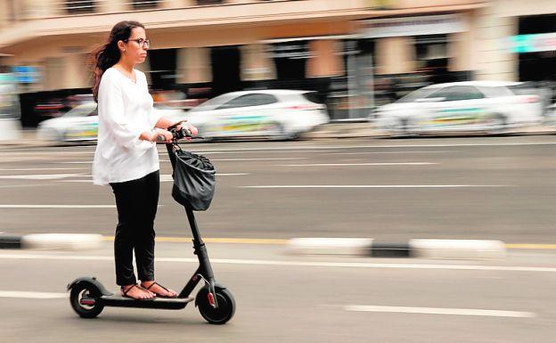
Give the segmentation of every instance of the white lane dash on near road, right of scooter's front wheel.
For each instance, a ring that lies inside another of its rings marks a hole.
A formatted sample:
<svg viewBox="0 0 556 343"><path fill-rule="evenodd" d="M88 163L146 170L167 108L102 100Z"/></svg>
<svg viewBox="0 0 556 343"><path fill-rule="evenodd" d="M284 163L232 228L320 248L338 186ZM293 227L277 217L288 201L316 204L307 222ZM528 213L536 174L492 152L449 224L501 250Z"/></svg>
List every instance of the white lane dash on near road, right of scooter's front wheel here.
<svg viewBox="0 0 556 343"><path fill-rule="evenodd" d="M533 318L536 314L521 311L483 310L476 308L438 308L438 307L407 307L407 306L371 306L348 305L346 311L355 312L391 312L404 314L446 314L446 315L478 315L489 317Z"/></svg>

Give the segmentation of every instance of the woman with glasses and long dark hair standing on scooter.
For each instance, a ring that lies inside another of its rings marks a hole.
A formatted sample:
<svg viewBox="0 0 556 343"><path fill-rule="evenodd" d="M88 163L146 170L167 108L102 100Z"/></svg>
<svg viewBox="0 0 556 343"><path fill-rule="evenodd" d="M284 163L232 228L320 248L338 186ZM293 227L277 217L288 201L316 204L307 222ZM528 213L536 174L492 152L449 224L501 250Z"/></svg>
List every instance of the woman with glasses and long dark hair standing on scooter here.
<svg viewBox="0 0 556 343"><path fill-rule="evenodd" d="M94 52L94 100L98 102L98 144L94 184L110 184L118 208L114 240L116 283L133 299L175 298L176 292L154 277L154 219L159 203L159 155L156 142L171 143L175 125L152 110L143 72L151 42L143 25L121 21L105 45ZM184 125L192 135L197 128ZM181 129L181 125L177 129ZM138 284L133 268L133 253Z"/></svg>

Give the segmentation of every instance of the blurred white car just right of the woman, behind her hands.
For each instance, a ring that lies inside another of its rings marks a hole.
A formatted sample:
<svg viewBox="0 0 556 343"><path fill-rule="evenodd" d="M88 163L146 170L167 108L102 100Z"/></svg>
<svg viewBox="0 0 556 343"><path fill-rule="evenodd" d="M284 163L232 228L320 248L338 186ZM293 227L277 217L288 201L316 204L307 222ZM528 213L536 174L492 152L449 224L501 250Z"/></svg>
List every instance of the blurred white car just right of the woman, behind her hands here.
<svg viewBox="0 0 556 343"><path fill-rule="evenodd" d="M204 138L296 138L329 121L315 92L254 90L219 95L183 116Z"/></svg>

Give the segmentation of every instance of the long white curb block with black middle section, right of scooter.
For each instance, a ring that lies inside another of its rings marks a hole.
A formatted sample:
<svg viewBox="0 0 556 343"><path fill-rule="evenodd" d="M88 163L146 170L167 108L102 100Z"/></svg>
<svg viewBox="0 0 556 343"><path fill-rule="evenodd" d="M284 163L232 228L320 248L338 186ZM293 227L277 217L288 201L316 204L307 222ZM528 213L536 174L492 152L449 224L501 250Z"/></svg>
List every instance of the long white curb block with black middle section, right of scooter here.
<svg viewBox="0 0 556 343"><path fill-rule="evenodd" d="M290 253L298 255L444 259L493 259L506 255L503 241L489 240L410 240L407 243L385 243L370 238L294 238L286 245Z"/></svg>

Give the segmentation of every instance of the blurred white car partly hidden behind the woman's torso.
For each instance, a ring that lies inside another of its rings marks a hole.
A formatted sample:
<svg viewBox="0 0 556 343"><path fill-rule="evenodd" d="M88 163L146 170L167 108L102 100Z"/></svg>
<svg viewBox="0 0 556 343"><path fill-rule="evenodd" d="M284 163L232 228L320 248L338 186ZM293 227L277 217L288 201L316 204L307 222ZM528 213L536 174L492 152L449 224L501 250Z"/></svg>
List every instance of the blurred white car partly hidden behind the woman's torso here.
<svg viewBox="0 0 556 343"><path fill-rule="evenodd" d="M157 106L162 116L176 116L183 110ZM43 141L87 142L96 141L98 135L98 112L96 102L85 102L69 110L61 117L47 119L38 124L37 138Z"/></svg>

